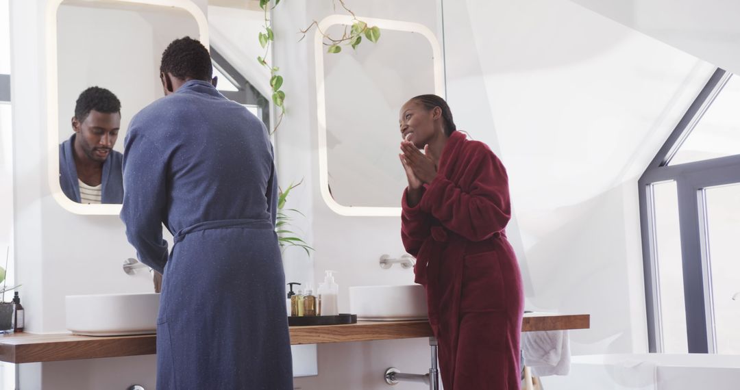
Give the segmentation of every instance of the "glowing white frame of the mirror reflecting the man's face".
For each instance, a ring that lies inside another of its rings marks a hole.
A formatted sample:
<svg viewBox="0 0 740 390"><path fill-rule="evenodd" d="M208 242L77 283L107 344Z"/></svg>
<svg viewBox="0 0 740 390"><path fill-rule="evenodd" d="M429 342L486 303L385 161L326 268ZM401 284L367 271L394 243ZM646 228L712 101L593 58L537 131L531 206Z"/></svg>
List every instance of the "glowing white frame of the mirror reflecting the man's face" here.
<svg viewBox="0 0 740 390"><path fill-rule="evenodd" d="M210 47L208 20L201 8L190 0L113 0L125 4L154 5L174 7L186 11L198 24L198 38L203 46ZM46 14L46 81L47 81L47 158L49 159L49 188L51 194L62 208L82 215L118 215L121 205L84 205L67 198L59 183L59 102L58 102L58 64L57 64L57 11L64 0L50 0ZM94 3L95 0L90 0ZM110 1L105 1L106 3Z"/></svg>

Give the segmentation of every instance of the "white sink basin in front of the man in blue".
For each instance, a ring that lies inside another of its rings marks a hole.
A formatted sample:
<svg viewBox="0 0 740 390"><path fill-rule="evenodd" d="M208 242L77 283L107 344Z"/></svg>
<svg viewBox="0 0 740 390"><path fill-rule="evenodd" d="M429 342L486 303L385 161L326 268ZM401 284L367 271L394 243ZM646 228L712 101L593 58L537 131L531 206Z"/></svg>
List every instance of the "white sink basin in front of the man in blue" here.
<svg viewBox="0 0 740 390"><path fill-rule="evenodd" d="M67 329L76 335L147 335L157 331L159 294L67 295Z"/></svg>

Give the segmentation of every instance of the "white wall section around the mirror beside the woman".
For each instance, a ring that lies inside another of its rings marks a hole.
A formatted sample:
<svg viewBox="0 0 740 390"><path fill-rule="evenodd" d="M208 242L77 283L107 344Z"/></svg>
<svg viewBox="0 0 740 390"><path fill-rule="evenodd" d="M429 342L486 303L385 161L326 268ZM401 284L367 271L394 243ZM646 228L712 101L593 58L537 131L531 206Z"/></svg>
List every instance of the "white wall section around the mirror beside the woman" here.
<svg viewBox="0 0 740 390"><path fill-rule="evenodd" d="M357 16L417 21L437 31L437 16L430 1L354 1L350 6ZM431 3L434 4L434 3ZM424 9L424 12L420 12ZM289 206L306 213L297 222L316 248L313 261L300 250L286 251L286 276L290 281L318 281L323 270L337 270L340 284L340 312L349 309L348 288L372 284L411 284L413 273L393 267L382 270L378 259L383 253L399 256L400 219L391 217L343 217L323 203L317 186L317 117L314 88L314 53L309 35L297 42L296 32L333 13L330 1L280 3L275 10L275 64L280 66L285 83L287 117L277 130L277 158L281 185L305 179L292 193ZM339 13L339 11L337 11ZM381 35L378 45L383 44ZM369 44L363 42L362 45ZM369 44L371 45L371 44ZM340 55L351 55L342 52ZM300 64L300 66L292 66ZM305 64L305 66L303 65ZM332 97L341 99L347 97ZM368 103L357 98L358 104ZM396 117L394 119L397 120ZM385 131L378 129L377 131ZM396 127L387 129L397 137ZM313 277L315 268L316 279ZM318 346L319 375L297 378L301 389L387 389L383 372L397 366L404 372L425 373L429 369L428 341L375 341ZM397 389L418 389L418 384L400 384Z"/></svg>

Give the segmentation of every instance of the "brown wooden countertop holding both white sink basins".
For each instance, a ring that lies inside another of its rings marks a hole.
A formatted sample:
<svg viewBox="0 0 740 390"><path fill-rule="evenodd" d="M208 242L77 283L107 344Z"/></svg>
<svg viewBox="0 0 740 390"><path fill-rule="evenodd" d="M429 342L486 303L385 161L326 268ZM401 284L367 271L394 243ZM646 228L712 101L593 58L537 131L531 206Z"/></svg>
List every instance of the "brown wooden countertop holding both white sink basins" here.
<svg viewBox="0 0 740 390"><path fill-rule="evenodd" d="M528 314L522 332L588 329L589 315ZM349 325L291 326L292 344L343 343L394 340L431 336L428 321L358 321ZM156 335L78 336L70 334L0 335L0 360L7 363L36 363L58 360L95 359L152 355Z"/></svg>

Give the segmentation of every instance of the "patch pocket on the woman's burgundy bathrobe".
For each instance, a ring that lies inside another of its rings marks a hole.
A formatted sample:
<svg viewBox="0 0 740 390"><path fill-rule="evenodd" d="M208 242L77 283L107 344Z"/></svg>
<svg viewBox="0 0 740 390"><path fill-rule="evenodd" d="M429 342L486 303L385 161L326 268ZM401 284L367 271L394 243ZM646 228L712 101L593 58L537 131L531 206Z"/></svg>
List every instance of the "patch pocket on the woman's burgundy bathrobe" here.
<svg viewBox="0 0 740 390"><path fill-rule="evenodd" d="M491 312L505 308L504 281L496 252L463 259L460 312Z"/></svg>

